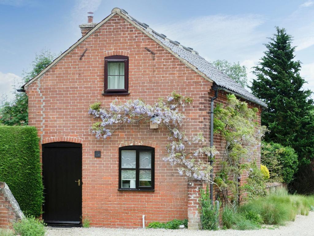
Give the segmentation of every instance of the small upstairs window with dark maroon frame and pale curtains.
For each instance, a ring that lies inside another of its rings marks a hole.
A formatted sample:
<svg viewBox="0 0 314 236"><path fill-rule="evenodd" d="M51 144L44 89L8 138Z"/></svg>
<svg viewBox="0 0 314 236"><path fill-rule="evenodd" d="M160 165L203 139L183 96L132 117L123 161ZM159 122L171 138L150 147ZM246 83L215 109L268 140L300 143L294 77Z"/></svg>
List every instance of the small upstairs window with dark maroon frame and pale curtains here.
<svg viewBox="0 0 314 236"><path fill-rule="evenodd" d="M126 56L105 57L104 95L128 94L128 67Z"/></svg>

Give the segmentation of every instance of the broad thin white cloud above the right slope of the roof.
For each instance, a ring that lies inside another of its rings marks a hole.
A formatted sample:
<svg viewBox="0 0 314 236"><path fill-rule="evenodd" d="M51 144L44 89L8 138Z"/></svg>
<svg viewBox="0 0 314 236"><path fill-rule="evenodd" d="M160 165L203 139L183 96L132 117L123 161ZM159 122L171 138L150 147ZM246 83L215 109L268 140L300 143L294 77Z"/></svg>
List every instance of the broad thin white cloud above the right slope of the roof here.
<svg viewBox="0 0 314 236"><path fill-rule="evenodd" d="M261 15L217 14L152 25L152 28L186 47L194 48L205 59L229 60L232 55L232 60L238 61L246 59L243 55L252 53L252 46L260 46L264 42L267 35L257 29L263 22Z"/></svg>

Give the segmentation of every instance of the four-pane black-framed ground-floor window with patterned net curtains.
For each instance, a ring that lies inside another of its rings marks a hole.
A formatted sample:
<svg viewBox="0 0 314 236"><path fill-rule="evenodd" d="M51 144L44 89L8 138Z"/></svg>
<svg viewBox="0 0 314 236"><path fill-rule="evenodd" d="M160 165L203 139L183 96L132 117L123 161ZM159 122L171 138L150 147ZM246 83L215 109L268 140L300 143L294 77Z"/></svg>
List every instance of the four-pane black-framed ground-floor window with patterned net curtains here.
<svg viewBox="0 0 314 236"><path fill-rule="evenodd" d="M119 189L154 189L154 148L127 146L119 148Z"/></svg>

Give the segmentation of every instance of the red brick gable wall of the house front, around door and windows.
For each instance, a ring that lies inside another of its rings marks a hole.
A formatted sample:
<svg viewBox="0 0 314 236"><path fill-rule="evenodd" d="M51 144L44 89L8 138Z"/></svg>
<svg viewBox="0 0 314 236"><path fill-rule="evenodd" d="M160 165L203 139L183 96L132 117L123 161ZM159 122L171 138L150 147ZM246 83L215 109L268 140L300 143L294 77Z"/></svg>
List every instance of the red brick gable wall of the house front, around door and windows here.
<svg viewBox="0 0 314 236"><path fill-rule="evenodd" d="M129 57L130 95L102 95L104 57L110 55ZM211 86L211 82L115 15L26 88L29 125L38 128L42 143L52 140L82 143L83 218L88 216L93 226L139 227L142 215L146 222L185 219L189 204L187 180L177 174L177 166L162 160L168 143L167 129L152 130L143 123L125 126L112 137L97 140L89 132L96 120L87 111L96 101L108 107L114 98L119 102L143 98L154 104L159 97L175 90L194 99L185 111L188 120L182 128L187 134L204 132L209 138ZM155 191L118 191L118 148L125 143L140 145L143 141L155 148ZM219 139L215 145L221 145ZM95 150L101 151L100 159L94 158Z"/></svg>

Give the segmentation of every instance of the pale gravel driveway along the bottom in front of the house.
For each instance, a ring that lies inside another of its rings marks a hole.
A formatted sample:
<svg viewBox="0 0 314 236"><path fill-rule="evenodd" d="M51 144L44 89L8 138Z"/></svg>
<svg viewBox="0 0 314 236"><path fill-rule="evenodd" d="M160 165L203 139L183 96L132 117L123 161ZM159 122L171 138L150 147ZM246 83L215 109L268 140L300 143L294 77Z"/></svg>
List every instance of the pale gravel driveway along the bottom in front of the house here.
<svg viewBox="0 0 314 236"><path fill-rule="evenodd" d="M111 229L111 228L47 228L47 236L285 236L314 235L314 212L296 216L295 222L275 229L260 230L188 230L188 229Z"/></svg>

